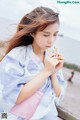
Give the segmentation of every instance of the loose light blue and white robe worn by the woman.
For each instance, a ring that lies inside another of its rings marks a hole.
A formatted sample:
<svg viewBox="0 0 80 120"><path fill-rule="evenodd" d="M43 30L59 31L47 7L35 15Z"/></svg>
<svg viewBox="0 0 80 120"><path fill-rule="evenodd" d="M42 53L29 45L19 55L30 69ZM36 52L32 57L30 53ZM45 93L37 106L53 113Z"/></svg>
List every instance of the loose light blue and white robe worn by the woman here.
<svg viewBox="0 0 80 120"><path fill-rule="evenodd" d="M47 52L45 52L46 57ZM43 68L44 64L33 52L32 45L16 47L5 56L0 63L0 81L3 85L1 109L4 112L9 112L15 105L25 83L39 74ZM44 96L30 120L57 120L56 105L59 105L64 98L66 90L66 81L64 81L62 70L57 72L57 78L62 88L60 96L56 97L51 78L48 77L40 89L44 92ZM23 120L23 118L8 114L8 120Z"/></svg>

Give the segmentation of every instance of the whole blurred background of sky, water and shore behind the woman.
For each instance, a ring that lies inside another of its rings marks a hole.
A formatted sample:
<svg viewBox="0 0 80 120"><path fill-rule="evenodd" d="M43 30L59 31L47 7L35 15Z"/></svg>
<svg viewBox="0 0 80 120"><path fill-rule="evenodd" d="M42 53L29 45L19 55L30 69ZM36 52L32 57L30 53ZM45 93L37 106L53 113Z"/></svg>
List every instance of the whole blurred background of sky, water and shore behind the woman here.
<svg viewBox="0 0 80 120"><path fill-rule="evenodd" d="M60 14L60 31L55 46L65 57L63 73L66 80L71 76L71 70L66 67L75 68L73 83L68 82L66 97L61 106L79 115L80 4L59 4L57 0L0 0L0 40L10 38L15 33L20 19L38 6L52 8Z"/></svg>

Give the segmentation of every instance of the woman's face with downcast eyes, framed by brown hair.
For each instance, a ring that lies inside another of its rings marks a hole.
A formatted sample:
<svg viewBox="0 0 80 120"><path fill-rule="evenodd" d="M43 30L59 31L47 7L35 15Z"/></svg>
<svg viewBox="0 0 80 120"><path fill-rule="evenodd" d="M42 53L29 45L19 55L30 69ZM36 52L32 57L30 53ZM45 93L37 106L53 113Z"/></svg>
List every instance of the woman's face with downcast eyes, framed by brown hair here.
<svg viewBox="0 0 80 120"><path fill-rule="evenodd" d="M43 31L38 31L34 34L33 44L45 50L52 47L59 31L59 23L48 25Z"/></svg>

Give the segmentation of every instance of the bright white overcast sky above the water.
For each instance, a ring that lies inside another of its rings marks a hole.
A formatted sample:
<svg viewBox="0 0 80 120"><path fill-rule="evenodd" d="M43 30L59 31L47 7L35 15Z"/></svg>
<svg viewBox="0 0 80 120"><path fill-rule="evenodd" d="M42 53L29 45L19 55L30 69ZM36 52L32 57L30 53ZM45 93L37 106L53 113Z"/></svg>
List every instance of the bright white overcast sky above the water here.
<svg viewBox="0 0 80 120"><path fill-rule="evenodd" d="M80 40L80 4L58 4L57 0L0 0L0 17L19 21L24 14L37 6L54 10L57 8L63 25L61 32L65 36Z"/></svg>

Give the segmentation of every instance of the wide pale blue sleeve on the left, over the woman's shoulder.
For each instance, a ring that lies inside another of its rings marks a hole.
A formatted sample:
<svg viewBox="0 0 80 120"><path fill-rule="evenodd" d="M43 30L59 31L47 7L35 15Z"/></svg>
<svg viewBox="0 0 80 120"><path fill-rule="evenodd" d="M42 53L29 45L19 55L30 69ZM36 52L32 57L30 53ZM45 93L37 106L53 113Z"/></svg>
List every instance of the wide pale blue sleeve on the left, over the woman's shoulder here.
<svg viewBox="0 0 80 120"><path fill-rule="evenodd" d="M23 85L27 82L24 77L24 65L20 61L23 54L19 51L11 51L0 63L2 97L11 107L15 105Z"/></svg>

